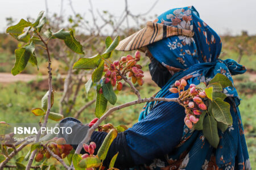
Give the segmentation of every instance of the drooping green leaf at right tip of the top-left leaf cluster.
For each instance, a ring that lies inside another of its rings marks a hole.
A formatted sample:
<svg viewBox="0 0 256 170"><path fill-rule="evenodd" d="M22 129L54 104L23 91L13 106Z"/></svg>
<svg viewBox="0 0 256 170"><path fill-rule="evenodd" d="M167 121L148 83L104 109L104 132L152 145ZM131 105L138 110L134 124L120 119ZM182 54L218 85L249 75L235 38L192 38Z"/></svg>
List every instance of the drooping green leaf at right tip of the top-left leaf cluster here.
<svg viewBox="0 0 256 170"><path fill-rule="evenodd" d="M84 52L82 51L82 45L79 41L75 39L73 31L69 31L69 36L64 39L64 42L73 52L77 54L84 54Z"/></svg>

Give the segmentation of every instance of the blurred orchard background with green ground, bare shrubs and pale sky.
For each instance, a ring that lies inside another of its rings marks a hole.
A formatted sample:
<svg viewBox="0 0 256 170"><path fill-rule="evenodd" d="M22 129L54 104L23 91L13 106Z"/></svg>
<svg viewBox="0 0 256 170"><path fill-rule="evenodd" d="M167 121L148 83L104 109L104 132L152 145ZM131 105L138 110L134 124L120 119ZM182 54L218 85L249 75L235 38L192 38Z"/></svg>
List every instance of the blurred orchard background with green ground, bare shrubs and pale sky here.
<svg viewBox="0 0 256 170"><path fill-rule="evenodd" d="M117 35L121 39L144 27L148 20L175 7L195 6L200 17L212 27L222 39L220 58L232 58L245 65L247 72L234 76L235 86L242 98L240 110L250 154L251 167L256 167L256 2L251 1L166 1L166 0L9 0L1 1L0 6L0 121L38 122L39 117L32 114L32 108L41 105L41 98L48 90L47 60L43 50L36 50L39 70L28 64L16 76L10 71L15 63L14 50L22 45L5 30L21 18L32 22L38 13L46 11L47 28L57 31L61 28L73 29L75 37L83 45L85 55L78 55L64 47L61 41L51 40L53 68L53 90L55 104L52 112L72 116L88 123L94 116L95 90L86 94L85 83L90 71L72 70L73 63L80 57L90 57L105 49L105 37ZM134 52L114 52L113 60ZM146 72L145 85L138 87L142 97L155 94L159 87L148 73L149 61L141 60L142 70ZM135 100L130 88L117 92L116 105ZM108 107L112 107L110 104ZM128 127L137 122L143 104L115 112L106 120L114 126ZM25 153L25 152L24 152Z"/></svg>

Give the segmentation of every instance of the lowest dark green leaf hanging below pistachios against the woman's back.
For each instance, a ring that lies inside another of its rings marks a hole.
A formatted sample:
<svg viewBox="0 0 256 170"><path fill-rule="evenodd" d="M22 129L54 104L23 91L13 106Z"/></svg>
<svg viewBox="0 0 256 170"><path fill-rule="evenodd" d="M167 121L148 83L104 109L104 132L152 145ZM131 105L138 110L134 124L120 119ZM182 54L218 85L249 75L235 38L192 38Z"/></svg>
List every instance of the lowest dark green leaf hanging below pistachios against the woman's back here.
<svg viewBox="0 0 256 170"><path fill-rule="evenodd" d="M214 120L213 116L207 115L204 118L203 134L210 145L217 148L218 143L220 142L220 137L218 137L217 121Z"/></svg>

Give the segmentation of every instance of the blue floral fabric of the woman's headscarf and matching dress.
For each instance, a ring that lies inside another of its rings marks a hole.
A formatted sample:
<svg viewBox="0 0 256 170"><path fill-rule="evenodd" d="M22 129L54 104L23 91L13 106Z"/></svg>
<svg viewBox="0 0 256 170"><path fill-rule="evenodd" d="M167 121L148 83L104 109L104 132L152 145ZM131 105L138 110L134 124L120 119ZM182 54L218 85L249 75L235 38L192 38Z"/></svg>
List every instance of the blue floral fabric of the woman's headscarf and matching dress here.
<svg viewBox="0 0 256 170"><path fill-rule="evenodd" d="M199 13L193 6L164 12L155 22L195 32L193 37L172 36L147 46L152 56L171 72L174 68L182 69L172 76L155 97L170 95L169 88L181 78L187 79L189 84L199 84L209 82L214 75L221 73L233 82L232 75L245 73L245 67L233 59L225 61L218 59L221 52L220 37L200 19ZM209 145L202 131L189 129L184 125L181 142L172 154L167 155L165 160L154 160L148 164L148 167L150 169L251 169L238 109L240 98L236 88L226 87L224 93L231 96L236 104L230 107L233 125L224 133L219 131L220 144L217 149ZM147 103L139 116L139 121L150 116L157 104L156 101Z"/></svg>

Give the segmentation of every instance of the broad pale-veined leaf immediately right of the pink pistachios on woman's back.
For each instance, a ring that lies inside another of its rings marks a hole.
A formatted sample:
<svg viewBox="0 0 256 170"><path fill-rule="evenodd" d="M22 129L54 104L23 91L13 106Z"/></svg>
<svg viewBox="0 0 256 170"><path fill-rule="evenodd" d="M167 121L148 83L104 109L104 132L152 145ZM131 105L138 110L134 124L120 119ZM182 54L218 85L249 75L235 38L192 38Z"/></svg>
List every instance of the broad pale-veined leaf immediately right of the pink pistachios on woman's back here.
<svg viewBox="0 0 256 170"><path fill-rule="evenodd" d="M222 122L226 125L232 125L232 116L230 114L229 103L223 101L220 98L216 98L212 101L212 113L214 118L218 122Z"/></svg>

